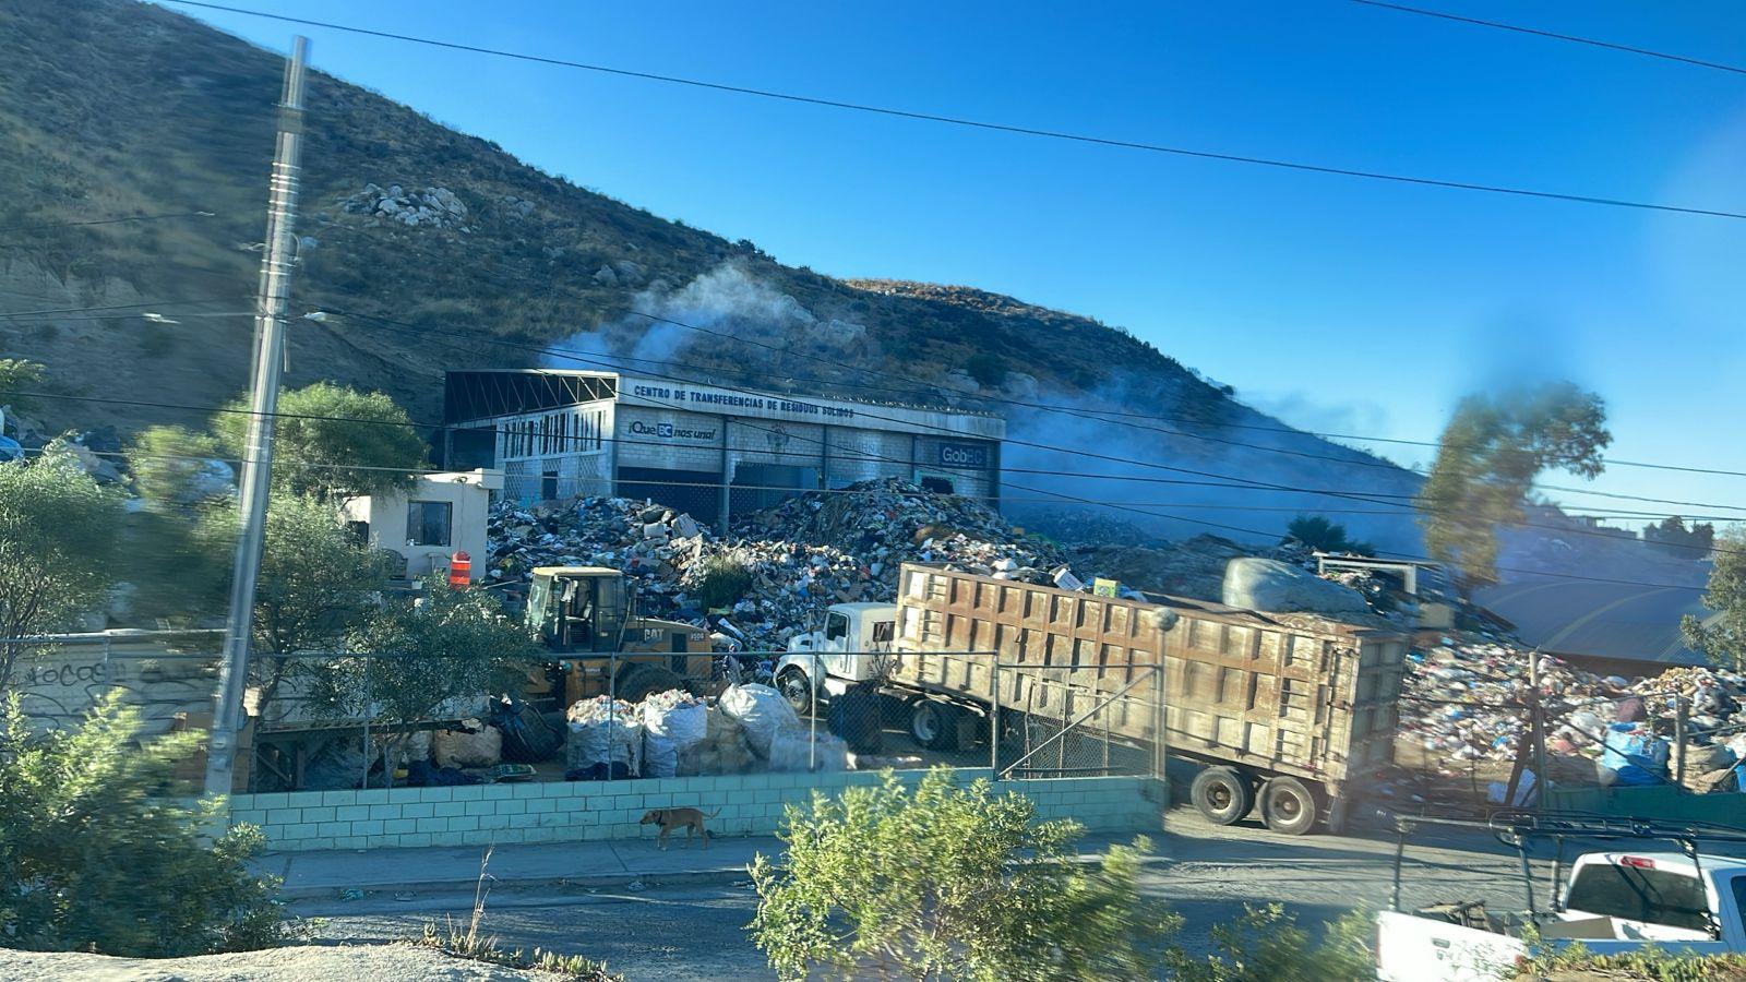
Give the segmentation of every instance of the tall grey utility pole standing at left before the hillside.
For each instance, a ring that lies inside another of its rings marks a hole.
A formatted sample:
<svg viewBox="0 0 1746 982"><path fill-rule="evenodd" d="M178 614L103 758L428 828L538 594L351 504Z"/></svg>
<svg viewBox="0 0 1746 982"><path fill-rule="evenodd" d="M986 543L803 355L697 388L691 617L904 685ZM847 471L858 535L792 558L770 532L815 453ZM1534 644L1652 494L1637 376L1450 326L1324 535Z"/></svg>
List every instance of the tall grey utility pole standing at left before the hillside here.
<svg viewBox="0 0 1746 982"><path fill-rule="evenodd" d="M241 519L236 563L230 570L230 613L225 619L223 664L218 669L218 706L206 751L206 795L229 795L236 776L243 688L248 681L248 647L255 627L255 580L267 535L267 493L272 479L272 418L279 407L279 372L285 369L285 309L292 297L297 222L297 180L304 140L304 61L309 38L292 40L279 98L279 140L267 192L267 250L260 260L255 311L255 367L250 395L248 444L243 453Z"/></svg>

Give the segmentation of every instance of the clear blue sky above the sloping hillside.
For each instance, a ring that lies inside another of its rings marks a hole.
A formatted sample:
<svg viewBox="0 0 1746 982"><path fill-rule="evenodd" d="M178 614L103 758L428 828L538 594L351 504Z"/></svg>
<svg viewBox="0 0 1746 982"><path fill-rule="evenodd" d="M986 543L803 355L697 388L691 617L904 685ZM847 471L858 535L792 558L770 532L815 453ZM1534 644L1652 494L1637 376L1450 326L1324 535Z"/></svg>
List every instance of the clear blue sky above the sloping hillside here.
<svg viewBox="0 0 1746 982"><path fill-rule="evenodd" d="M237 3L1044 129L1746 211L1746 75L1348 0ZM1467 391L1568 377L1608 400L1612 456L1746 472L1743 220L967 131L166 5L281 51L302 30L327 72L782 262L1128 327L1299 426L1433 439ZM1746 65L1746 9L1722 0L1437 9ZM1615 467L1592 486L1746 507L1746 477Z"/></svg>

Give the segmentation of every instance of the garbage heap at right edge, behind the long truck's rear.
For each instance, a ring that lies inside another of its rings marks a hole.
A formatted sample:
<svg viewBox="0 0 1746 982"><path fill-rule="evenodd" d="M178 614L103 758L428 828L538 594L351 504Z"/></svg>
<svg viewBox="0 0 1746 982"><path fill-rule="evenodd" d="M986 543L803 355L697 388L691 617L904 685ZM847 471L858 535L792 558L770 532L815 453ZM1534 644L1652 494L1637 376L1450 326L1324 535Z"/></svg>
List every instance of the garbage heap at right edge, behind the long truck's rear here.
<svg viewBox="0 0 1746 982"><path fill-rule="evenodd" d="M1653 771L1657 746L1662 746L1655 741L1674 736L1680 699L1687 704L1688 744L1718 748L1706 751L1695 767L1722 767L1746 753L1743 741L1727 760L1722 758L1722 750L1734 741L1732 725L1746 723L1746 674L1715 667L1676 667L1646 678L1598 674L1484 633L1444 636L1439 645L1409 655L1402 737L1418 743L1444 774L1467 772L1482 762L1514 762L1528 718L1524 706L1533 692L1529 664L1535 660L1547 751L1554 757L1598 758L1615 778L1639 778L1633 769L1645 769L1645 760L1627 757L1643 755L1620 757L1613 744L1641 743L1653 751L1646 758L1646 769ZM1615 739L1610 732L1622 736ZM1556 767L1552 776L1557 778Z"/></svg>

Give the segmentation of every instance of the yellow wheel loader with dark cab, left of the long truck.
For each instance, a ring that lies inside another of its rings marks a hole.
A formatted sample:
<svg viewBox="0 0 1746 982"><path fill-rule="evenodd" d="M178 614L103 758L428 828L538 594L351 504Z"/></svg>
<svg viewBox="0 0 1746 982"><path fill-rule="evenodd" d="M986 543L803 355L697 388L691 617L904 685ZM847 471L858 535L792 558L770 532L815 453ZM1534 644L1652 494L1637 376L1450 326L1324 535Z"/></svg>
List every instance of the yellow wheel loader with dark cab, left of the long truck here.
<svg viewBox="0 0 1746 982"><path fill-rule="evenodd" d="M697 687L714 662L707 631L637 617L636 591L606 566L536 568L524 617L559 659L566 708L608 692L641 702L651 692Z"/></svg>

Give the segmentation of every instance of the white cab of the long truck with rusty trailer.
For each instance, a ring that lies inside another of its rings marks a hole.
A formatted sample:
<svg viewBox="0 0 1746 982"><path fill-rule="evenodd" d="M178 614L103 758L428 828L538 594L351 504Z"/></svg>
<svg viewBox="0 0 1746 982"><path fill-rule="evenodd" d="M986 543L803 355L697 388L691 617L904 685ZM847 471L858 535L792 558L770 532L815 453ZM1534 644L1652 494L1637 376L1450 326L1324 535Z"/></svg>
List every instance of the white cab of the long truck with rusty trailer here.
<svg viewBox="0 0 1746 982"><path fill-rule="evenodd" d="M814 701L842 695L857 681L878 680L882 654L894 652L897 605L833 603L817 627L787 641L787 654L775 666L775 685L796 711Z"/></svg>

